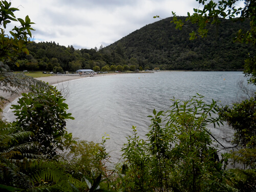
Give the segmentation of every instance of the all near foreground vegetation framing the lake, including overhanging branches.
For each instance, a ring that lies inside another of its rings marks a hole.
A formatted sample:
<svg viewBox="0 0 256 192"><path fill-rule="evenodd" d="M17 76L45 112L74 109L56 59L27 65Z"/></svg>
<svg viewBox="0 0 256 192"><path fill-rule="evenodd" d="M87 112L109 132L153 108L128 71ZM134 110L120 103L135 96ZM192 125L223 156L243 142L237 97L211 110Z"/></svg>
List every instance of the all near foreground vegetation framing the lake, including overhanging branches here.
<svg viewBox="0 0 256 192"><path fill-rule="evenodd" d="M223 10L230 9L231 14L242 11L241 17L250 18L251 29L238 37L255 46L255 3L246 1L243 10L234 10L233 3L236 1L221 1L226 6L223 9L210 2L188 15L188 20L199 24L191 38L204 36L205 24L216 23L217 16L225 16ZM101 143L75 140L66 131L66 120L74 118L67 113L61 92L10 70L18 54L29 52L26 46L33 23L28 16L16 19L13 12L17 9L11 3L1 1L0 5L1 26L5 29L11 21L20 25L11 31L11 37L4 29L0 34L0 89L13 94L30 90L12 105L17 120L0 121L1 191L255 191L255 97L234 103L232 108L218 106L214 100L205 103L201 95L186 101L173 99L169 110L153 110L147 139L139 138L132 127L133 133L122 147L123 161L110 166L105 147L108 135ZM176 18L177 28L182 27L183 21ZM255 84L255 58L249 57L245 63L245 73ZM0 99L1 104L7 100ZM232 151L221 154L219 150L226 146L207 127L223 121L235 134Z"/></svg>

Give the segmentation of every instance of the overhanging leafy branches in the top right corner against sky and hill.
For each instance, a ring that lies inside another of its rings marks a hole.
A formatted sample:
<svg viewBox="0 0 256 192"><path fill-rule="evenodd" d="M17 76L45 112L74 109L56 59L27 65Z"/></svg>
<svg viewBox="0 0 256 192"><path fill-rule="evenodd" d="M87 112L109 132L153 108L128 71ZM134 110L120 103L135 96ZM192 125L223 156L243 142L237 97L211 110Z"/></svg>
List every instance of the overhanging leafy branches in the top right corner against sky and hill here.
<svg viewBox="0 0 256 192"><path fill-rule="evenodd" d="M218 26L223 20L220 18L229 18L234 22L243 21L246 19L250 20L250 29L243 31L240 29L237 33L235 41L242 43L250 43L256 47L256 2L253 0L244 0L244 7L238 7L237 2L239 0L219 0L218 3L210 1L206 4L207 0L196 0L203 5L203 9L194 9L194 13L187 14L186 22L190 21L192 24L197 24L198 28L196 31L192 31L190 39L195 39L198 36L205 37L209 31L209 25ZM173 12L173 23L176 24L177 29L182 29L185 24L181 19L177 19L176 14ZM159 16L156 16L159 17ZM255 54L249 55L245 60L246 76L250 77L250 82L256 84L256 59Z"/></svg>

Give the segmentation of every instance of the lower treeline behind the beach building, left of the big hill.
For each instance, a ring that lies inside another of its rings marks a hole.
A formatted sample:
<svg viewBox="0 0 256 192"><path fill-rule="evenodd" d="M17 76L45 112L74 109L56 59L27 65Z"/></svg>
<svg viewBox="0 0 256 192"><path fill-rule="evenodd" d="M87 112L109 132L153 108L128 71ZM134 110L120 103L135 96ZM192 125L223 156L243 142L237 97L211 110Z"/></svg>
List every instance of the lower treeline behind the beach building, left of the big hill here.
<svg viewBox="0 0 256 192"><path fill-rule="evenodd" d="M19 54L18 66L12 70L40 70L40 71L76 71L78 69L93 69L94 71L135 71L138 66L135 58L130 61L114 62L115 51L104 53L101 49L76 50L73 46L60 46L55 42L31 42L27 46L29 55Z"/></svg>

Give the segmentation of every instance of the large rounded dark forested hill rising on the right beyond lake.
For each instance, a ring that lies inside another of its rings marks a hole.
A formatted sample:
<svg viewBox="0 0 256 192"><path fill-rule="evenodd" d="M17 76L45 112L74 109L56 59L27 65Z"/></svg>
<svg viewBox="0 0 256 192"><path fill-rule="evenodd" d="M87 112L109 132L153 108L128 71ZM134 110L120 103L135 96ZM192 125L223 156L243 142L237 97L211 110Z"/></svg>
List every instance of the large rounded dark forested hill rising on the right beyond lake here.
<svg viewBox="0 0 256 192"><path fill-rule="evenodd" d="M238 30L248 29L249 22L223 20L209 30L206 38L189 40L193 25L186 24L178 30L170 23L171 19L147 25L104 50L136 58L143 68L168 70L240 70L248 52L253 51L248 45L233 43Z"/></svg>

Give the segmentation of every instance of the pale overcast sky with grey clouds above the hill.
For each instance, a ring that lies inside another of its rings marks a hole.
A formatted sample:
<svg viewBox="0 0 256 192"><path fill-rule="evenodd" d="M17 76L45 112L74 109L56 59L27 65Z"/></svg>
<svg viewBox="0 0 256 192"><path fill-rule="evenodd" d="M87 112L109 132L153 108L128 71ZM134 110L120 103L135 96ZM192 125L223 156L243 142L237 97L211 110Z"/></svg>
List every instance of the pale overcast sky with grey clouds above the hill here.
<svg viewBox="0 0 256 192"><path fill-rule="evenodd" d="M17 18L29 15L36 42L55 41L76 49L113 44L153 18L179 16L198 8L196 0L11 0Z"/></svg>

